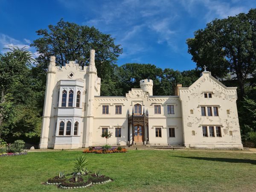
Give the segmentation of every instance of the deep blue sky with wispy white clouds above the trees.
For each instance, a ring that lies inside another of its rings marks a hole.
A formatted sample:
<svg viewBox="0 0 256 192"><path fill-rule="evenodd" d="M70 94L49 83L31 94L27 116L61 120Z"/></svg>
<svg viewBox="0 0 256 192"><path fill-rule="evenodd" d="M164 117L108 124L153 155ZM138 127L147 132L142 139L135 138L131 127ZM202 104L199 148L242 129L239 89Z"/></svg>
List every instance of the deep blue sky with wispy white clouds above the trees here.
<svg viewBox="0 0 256 192"><path fill-rule="evenodd" d="M36 30L63 18L116 38L123 48L118 65L190 70L195 63L186 39L215 18L251 8L256 8L255 0L0 0L0 52L8 45L29 46L38 38ZM38 55L35 48L28 49Z"/></svg>

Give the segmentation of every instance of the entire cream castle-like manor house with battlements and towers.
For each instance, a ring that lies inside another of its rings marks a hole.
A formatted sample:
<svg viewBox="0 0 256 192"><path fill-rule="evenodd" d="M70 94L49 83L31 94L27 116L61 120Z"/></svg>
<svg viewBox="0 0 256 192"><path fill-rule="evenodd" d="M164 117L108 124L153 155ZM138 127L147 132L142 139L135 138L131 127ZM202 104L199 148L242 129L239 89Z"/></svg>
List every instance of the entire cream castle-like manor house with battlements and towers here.
<svg viewBox="0 0 256 192"><path fill-rule="evenodd" d="M153 96L153 81L125 96L100 96L101 79L90 64L55 65L50 58L39 148L104 145L185 145L189 148L239 148L236 87L226 87L204 70L190 87L177 84L175 96Z"/></svg>

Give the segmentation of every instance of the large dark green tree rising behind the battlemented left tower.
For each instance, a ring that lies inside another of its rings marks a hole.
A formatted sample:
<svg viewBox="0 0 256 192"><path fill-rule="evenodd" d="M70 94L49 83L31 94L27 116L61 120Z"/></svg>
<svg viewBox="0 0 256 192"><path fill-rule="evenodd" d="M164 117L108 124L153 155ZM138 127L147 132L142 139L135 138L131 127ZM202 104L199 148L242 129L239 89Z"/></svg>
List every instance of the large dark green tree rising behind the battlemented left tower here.
<svg viewBox="0 0 256 192"><path fill-rule="evenodd" d="M49 56L55 55L56 64L63 66L68 61L75 61L81 65L88 65L90 49L95 49L95 64L98 76L102 81L102 95L105 90L115 90L115 81L107 79L113 76L114 65L122 53L120 45L114 44L111 35L103 34L98 29L89 26L80 26L76 23L60 20L57 25L49 25L49 29L40 29L31 46L36 47L38 53L38 66L47 69ZM109 83L111 81L111 83ZM106 84L105 84L106 82ZM112 86L112 87L111 87ZM111 93L112 94L112 93ZM113 95L116 93L113 93Z"/></svg>

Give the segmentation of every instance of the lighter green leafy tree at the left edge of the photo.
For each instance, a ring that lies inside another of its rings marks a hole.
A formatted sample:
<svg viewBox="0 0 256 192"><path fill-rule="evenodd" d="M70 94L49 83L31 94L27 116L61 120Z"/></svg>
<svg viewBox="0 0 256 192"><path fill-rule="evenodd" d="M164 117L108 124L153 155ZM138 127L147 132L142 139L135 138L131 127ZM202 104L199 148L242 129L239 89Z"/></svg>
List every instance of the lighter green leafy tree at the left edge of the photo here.
<svg viewBox="0 0 256 192"><path fill-rule="evenodd" d="M15 46L0 55L0 137L9 134L15 121L17 98L13 90L19 89L20 82L27 79L33 61L31 52Z"/></svg>

